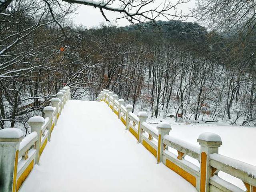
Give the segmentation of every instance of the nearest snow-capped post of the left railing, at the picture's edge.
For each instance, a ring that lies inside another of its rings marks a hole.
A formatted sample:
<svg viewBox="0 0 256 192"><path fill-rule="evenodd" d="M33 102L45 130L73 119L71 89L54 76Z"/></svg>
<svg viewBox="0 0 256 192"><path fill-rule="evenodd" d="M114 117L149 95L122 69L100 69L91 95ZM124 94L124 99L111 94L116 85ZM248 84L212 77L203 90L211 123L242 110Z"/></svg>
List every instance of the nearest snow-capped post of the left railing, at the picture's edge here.
<svg viewBox="0 0 256 192"><path fill-rule="evenodd" d="M0 192L16 192L17 166L23 133L17 128L0 130Z"/></svg>

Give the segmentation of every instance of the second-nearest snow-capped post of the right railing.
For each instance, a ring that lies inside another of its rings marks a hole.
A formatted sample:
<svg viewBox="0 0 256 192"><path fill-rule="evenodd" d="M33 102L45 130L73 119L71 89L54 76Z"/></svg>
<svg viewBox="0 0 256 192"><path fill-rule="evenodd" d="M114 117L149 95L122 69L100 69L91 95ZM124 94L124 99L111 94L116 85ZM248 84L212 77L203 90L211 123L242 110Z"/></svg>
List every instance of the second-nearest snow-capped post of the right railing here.
<svg viewBox="0 0 256 192"><path fill-rule="evenodd" d="M168 135L172 127L168 123L159 123L156 128L158 129L158 148L157 148L157 163L162 162L164 144L163 138Z"/></svg>

